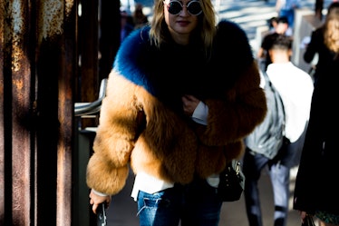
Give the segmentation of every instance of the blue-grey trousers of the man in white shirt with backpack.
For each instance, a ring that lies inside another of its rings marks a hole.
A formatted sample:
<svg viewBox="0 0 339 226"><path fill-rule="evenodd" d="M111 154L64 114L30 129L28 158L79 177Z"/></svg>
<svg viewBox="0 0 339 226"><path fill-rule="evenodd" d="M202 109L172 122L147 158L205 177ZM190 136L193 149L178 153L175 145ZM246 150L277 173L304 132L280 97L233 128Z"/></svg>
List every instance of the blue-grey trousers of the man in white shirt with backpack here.
<svg viewBox="0 0 339 226"><path fill-rule="evenodd" d="M289 157L287 159L290 159ZM274 225L286 226L290 166L283 164L283 162L281 160L270 160L259 153L253 154L249 149L245 152L243 162L243 172L246 177L244 196L249 226L263 226L257 182L260 179L261 171L266 166L269 169L268 174L274 194Z"/></svg>

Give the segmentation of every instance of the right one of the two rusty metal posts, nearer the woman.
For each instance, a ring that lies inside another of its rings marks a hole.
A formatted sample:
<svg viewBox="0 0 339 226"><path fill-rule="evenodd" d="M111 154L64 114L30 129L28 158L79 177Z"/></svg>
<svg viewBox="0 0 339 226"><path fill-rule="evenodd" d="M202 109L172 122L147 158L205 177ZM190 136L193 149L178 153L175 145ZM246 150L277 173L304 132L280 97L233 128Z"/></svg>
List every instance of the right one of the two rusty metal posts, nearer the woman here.
<svg viewBox="0 0 339 226"><path fill-rule="evenodd" d="M39 2L36 55L36 218L72 220L73 86L77 74L76 1Z"/></svg>

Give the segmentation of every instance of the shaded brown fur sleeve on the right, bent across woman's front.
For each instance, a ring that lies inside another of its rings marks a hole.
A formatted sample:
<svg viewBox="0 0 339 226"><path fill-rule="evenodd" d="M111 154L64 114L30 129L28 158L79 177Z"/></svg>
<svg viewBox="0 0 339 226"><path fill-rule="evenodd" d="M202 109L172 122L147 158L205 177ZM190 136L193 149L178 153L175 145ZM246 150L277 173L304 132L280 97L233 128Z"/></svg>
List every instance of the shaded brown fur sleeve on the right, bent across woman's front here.
<svg viewBox="0 0 339 226"><path fill-rule="evenodd" d="M208 126L200 127L200 141L207 145L237 142L251 133L266 115L266 97L259 86L257 64L240 75L225 100L207 100Z"/></svg>

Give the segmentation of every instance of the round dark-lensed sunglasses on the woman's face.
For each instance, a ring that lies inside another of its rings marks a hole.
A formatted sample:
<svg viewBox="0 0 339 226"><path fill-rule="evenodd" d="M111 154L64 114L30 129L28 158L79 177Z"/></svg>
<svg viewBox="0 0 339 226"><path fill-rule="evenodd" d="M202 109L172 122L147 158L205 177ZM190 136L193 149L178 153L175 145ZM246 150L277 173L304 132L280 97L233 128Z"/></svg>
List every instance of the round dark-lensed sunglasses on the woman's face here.
<svg viewBox="0 0 339 226"><path fill-rule="evenodd" d="M202 13L199 1L190 1L188 5L182 5L182 3L178 0L172 0L169 4L166 4L165 2L163 3L167 6L167 10L171 15L179 15L183 7L187 8L190 15L199 15Z"/></svg>

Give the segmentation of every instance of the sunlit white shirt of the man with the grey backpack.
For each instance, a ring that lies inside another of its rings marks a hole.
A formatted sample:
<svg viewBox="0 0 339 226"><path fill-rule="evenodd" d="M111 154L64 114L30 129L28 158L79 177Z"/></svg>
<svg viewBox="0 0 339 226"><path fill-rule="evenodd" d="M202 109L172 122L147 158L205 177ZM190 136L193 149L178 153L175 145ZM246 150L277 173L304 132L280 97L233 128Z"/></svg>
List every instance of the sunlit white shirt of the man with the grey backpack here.
<svg viewBox="0 0 339 226"><path fill-rule="evenodd" d="M291 62L269 64L266 73L280 93L286 113L286 138L295 142L308 122L314 84L309 74Z"/></svg>

